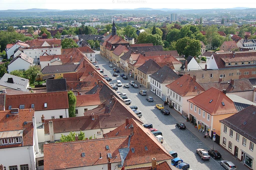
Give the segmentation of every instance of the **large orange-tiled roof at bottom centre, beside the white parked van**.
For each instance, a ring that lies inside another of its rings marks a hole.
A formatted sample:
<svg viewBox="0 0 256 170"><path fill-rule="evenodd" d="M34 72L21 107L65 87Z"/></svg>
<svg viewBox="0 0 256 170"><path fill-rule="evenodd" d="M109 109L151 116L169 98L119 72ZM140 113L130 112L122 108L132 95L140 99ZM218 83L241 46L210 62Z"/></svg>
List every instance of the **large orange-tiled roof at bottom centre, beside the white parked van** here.
<svg viewBox="0 0 256 170"><path fill-rule="evenodd" d="M153 157L156 158L157 161L164 161L173 158L148 129L142 127L133 119L129 119L128 125L124 123L113 131L104 134L104 137L130 135L131 125L133 125L133 135L130 139L130 148L134 148L134 153L131 151L128 152L124 159L124 166L151 163ZM138 141L138 139L143 140ZM145 146L147 146L147 151L145 151Z"/></svg>

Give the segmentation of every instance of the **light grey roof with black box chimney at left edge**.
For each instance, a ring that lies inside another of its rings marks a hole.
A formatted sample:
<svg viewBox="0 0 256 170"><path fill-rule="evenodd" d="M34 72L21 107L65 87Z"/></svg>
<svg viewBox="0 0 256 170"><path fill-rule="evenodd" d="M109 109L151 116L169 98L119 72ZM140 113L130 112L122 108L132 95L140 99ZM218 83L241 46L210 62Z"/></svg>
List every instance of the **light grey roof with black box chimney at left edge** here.
<svg viewBox="0 0 256 170"><path fill-rule="evenodd" d="M9 78L9 81L8 81ZM28 92L27 85L29 85L29 80L26 78L18 77L15 75L5 73L0 80L0 85L15 90L21 90Z"/></svg>

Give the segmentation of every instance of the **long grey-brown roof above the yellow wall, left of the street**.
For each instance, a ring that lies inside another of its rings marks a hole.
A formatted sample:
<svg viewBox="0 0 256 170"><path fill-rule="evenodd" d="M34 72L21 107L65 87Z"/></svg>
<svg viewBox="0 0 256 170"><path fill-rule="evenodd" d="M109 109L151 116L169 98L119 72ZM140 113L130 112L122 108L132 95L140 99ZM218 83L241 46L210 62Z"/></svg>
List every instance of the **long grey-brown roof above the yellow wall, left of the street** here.
<svg viewBox="0 0 256 170"><path fill-rule="evenodd" d="M80 64L47 65L42 69L42 74L75 72Z"/></svg>

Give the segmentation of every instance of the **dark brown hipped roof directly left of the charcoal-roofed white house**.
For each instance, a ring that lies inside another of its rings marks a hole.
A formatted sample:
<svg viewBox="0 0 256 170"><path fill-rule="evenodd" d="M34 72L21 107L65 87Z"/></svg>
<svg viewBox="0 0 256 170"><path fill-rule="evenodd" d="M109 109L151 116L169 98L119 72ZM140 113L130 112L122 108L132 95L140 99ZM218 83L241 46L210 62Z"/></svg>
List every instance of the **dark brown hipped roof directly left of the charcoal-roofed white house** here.
<svg viewBox="0 0 256 170"><path fill-rule="evenodd" d="M137 69L140 70L144 74L153 74L162 67L159 66L154 60L149 59L144 64L139 66Z"/></svg>

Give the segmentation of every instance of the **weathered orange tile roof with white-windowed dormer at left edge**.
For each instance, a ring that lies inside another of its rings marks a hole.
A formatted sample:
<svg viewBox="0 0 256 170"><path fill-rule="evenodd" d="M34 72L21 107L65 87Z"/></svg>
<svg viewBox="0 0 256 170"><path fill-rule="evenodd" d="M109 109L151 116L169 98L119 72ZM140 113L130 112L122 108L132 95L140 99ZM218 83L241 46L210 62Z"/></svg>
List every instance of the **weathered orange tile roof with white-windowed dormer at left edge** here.
<svg viewBox="0 0 256 170"><path fill-rule="evenodd" d="M6 115L12 115L10 110L0 111L0 132L4 131L14 131L14 130L24 130L23 131L23 143L16 144L16 145L6 145L0 146L1 148L13 148L18 146L33 146L33 134L34 128L32 117L34 117L34 110L33 109L20 109L19 114L15 116L9 116L8 118ZM24 122L29 122L24 125ZM30 123L31 122L31 123Z"/></svg>

